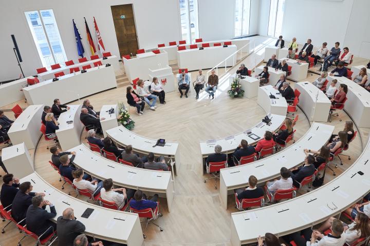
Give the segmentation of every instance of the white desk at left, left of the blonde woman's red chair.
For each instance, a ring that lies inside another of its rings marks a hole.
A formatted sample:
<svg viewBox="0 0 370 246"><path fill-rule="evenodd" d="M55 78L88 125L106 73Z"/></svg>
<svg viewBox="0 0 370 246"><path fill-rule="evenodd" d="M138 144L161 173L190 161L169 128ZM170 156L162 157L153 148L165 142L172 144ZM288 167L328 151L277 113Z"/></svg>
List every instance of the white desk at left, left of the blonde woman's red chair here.
<svg viewBox="0 0 370 246"><path fill-rule="evenodd" d="M41 136L41 115L44 105L31 105L25 109L8 131L13 145L25 143L27 149L34 149Z"/></svg>

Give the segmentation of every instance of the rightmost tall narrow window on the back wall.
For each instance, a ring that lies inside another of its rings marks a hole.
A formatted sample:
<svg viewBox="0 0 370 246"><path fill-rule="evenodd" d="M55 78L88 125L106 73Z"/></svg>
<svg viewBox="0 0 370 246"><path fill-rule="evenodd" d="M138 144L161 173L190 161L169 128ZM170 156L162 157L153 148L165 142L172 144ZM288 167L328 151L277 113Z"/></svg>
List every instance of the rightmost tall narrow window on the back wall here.
<svg viewBox="0 0 370 246"><path fill-rule="evenodd" d="M267 35L278 37L282 33L285 0L271 0Z"/></svg>

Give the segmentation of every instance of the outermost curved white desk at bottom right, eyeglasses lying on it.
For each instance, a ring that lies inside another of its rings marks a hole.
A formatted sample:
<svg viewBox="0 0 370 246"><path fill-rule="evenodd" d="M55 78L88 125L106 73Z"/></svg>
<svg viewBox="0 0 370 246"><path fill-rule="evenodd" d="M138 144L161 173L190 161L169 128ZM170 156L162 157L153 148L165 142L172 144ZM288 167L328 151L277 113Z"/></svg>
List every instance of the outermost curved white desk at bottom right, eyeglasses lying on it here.
<svg viewBox="0 0 370 246"><path fill-rule="evenodd" d="M232 213L231 244L255 242L258 235L266 232L284 236L340 214L369 192L369 159L370 141L356 162L326 185L269 207Z"/></svg>

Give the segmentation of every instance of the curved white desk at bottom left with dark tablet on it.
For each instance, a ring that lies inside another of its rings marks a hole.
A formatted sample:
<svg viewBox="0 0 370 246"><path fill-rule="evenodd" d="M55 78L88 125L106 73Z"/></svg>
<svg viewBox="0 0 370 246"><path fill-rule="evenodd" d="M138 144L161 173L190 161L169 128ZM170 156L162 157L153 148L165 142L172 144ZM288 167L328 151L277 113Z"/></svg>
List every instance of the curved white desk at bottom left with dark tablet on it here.
<svg viewBox="0 0 370 246"><path fill-rule="evenodd" d="M57 222L57 218L62 216L65 209L72 208L75 217L85 225L84 233L88 236L125 243L128 246L137 246L143 243L140 220L137 214L106 209L81 201L55 189L36 172L21 179L21 182L25 181L31 182L35 192L45 193L44 199L54 204L57 216L51 219L53 222ZM93 213L88 218L81 217L87 208L94 209Z"/></svg>

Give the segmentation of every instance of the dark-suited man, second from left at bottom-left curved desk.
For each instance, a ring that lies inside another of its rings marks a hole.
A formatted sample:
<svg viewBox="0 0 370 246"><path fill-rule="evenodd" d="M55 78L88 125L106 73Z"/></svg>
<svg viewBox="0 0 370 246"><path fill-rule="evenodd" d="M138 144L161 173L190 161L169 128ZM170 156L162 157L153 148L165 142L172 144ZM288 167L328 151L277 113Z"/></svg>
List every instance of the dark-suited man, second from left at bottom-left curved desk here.
<svg viewBox="0 0 370 246"><path fill-rule="evenodd" d="M23 182L20 185L20 189L15 195L12 204L11 216L16 222L20 222L26 218L28 207L32 204L32 197L34 196L45 196L44 193L34 193L32 191L31 182Z"/></svg>

